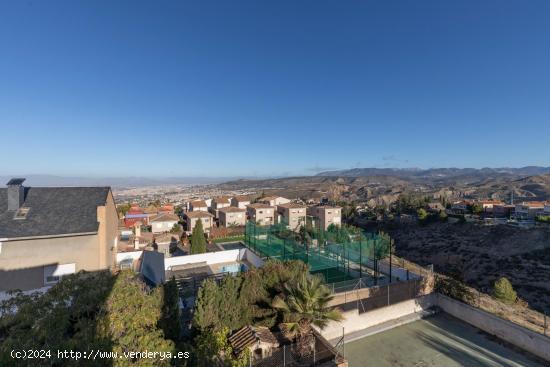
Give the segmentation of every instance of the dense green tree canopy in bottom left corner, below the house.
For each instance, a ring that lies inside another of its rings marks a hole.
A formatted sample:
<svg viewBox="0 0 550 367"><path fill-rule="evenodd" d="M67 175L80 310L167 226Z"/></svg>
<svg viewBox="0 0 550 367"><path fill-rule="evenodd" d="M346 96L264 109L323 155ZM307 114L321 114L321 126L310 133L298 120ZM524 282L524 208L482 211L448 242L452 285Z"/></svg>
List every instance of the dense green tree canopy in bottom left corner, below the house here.
<svg viewBox="0 0 550 367"><path fill-rule="evenodd" d="M132 271L68 275L42 295L17 294L0 305L0 365L13 366L12 349L175 351L159 326L164 291L149 289ZM168 320L165 320L168 322ZM172 320L174 322L174 320ZM20 360L27 365L27 360ZM58 359L47 365L163 366L170 360Z"/></svg>

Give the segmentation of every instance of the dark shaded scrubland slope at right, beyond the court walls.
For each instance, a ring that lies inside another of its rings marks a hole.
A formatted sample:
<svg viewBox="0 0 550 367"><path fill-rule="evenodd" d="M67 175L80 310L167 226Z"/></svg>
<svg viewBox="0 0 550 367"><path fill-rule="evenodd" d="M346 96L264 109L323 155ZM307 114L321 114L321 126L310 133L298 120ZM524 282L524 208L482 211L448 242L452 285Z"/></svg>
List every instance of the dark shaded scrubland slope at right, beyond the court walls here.
<svg viewBox="0 0 550 367"><path fill-rule="evenodd" d="M440 273L461 273L490 293L505 276L530 307L550 311L550 229L435 223L390 230L397 255Z"/></svg>

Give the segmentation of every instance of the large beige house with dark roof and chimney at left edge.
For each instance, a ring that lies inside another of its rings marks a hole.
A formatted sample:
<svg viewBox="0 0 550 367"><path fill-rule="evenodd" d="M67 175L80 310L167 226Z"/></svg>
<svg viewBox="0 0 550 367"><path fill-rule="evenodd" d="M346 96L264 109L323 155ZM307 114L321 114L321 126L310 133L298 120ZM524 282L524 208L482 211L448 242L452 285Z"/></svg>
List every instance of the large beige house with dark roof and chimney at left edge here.
<svg viewBox="0 0 550 367"><path fill-rule="evenodd" d="M118 213L110 187L0 189L0 291L32 290L116 262Z"/></svg>

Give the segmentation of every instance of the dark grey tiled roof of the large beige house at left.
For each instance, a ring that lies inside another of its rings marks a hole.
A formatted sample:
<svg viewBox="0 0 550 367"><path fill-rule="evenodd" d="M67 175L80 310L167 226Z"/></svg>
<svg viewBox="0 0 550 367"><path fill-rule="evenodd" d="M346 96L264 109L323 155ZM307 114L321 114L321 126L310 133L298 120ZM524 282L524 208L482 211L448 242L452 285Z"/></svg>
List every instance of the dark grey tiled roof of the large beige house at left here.
<svg viewBox="0 0 550 367"><path fill-rule="evenodd" d="M97 207L105 205L109 187L25 187L25 219L8 211L7 189L0 188L0 238L97 232Z"/></svg>

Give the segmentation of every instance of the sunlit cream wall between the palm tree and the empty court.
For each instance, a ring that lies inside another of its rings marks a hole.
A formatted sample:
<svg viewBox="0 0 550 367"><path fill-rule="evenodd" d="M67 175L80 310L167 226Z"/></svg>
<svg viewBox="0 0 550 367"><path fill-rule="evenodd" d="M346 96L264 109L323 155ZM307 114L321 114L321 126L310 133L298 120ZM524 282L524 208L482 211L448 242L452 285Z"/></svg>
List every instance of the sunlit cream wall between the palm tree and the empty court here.
<svg viewBox="0 0 550 367"><path fill-rule="evenodd" d="M403 316L424 311L433 305L432 302L432 295L428 295L362 314L359 314L358 310L344 312L344 321L331 321L327 327L319 332L328 340L336 339L342 336L342 328L344 328L343 331L347 335Z"/></svg>

